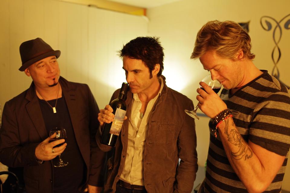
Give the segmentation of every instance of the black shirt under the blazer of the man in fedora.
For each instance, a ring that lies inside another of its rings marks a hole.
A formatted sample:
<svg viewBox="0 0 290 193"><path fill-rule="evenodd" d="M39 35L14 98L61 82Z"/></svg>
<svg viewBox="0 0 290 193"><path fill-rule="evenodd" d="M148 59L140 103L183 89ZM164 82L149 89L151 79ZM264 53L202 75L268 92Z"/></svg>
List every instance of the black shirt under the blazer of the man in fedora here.
<svg viewBox="0 0 290 193"><path fill-rule="evenodd" d="M49 100L47 102L54 107L56 100ZM65 128L67 135L67 146L61 154L61 158L64 162L68 162L68 165L63 167L53 167L53 192L79 193L79 186L85 182L86 167L76 142L66 101L64 96L57 100L56 113L53 113L53 109L47 104L47 102L39 99L47 134L49 134L49 131L52 128L62 127ZM53 163L58 162L58 159L58 156L54 158Z"/></svg>

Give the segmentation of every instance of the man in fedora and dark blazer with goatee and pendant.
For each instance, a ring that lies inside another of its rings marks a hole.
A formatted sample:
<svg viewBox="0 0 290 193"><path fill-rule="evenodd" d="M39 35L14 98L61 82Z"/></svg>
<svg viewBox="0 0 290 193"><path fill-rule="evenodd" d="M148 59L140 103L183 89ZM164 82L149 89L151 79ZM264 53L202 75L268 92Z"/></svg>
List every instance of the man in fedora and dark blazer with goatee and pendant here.
<svg viewBox="0 0 290 193"><path fill-rule="evenodd" d="M87 186L90 193L100 192L105 154L94 140L99 109L88 85L61 77L60 51L40 38L23 42L20 55L19 70L33 81L5 103L0 161L9 167L24 167L28 193L77 193ZM50 142L49 131L55 127L65 128L66 141ZM53 166L59 154L68 165Z"/></svg>

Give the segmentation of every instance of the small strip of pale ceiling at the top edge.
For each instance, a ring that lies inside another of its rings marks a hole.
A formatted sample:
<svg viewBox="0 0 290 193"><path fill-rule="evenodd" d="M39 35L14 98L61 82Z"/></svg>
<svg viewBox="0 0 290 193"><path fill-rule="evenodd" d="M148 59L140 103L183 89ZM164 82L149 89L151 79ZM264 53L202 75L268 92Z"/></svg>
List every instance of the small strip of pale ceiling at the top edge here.
<svg viewBox="0 0 290 193"><path fill-rule="evenodd" d="M180 0L110 0L110 1L148 9Z"/></svg>

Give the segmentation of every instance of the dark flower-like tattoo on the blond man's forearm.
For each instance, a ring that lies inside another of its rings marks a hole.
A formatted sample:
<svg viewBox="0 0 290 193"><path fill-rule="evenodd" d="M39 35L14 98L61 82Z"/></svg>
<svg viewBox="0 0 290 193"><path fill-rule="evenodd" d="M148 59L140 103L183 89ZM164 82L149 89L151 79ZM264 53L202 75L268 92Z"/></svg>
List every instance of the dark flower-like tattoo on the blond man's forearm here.
<svg viewBox="0 0 290 193"><path fill-rule="evenodd" d="M232 122L232 126L234 126L234 122ZM240 160L244 156L245 160L247 160L253 156L253 151L242 138L241 134L237 132L236 129L230 129L229 119L225 120L224 133L227 135L228 141L239 148L237 152L231 152L231 155L235 160Z"/></svg>

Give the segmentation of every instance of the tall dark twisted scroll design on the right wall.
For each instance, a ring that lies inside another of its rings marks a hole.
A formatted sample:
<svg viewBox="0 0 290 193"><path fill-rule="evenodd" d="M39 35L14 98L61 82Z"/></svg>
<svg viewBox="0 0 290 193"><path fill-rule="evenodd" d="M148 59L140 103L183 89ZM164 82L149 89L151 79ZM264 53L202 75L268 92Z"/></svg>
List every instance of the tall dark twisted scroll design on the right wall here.
<svg viewBox="0 0 290 193"><path fill-rule="evenodd" d="M279 44L281 37L282 37L283 27L286 30L290 29L290 17L289 16L290 16L290 14L286 15L279 22L276 21L276 19L274 19L273 17L269 17L269 16L263 16L260 19L261 26L263 27L264 30L270 31L274 27L274 29L273 29L273 41L275 43L275 46L272 50L272 61L274 63L274 67L272 69L272 75L275 78L277 78L279 81L281 81L281 80L280 80L280 74L279 74L279 69L278 69L277 64L281 58L281 50L280 50L278 44ZM287 20L287 17L288 17L288 20ZM285 21L284 26L281 26L283 21ZM278 39L276 39L277 37L278 37ZM278 55L274 55L275 52L278 52ZM283 84L289 89L289 86L287 86L285 83L283 83Z"/></svg>

